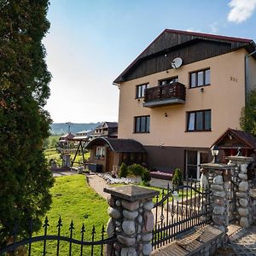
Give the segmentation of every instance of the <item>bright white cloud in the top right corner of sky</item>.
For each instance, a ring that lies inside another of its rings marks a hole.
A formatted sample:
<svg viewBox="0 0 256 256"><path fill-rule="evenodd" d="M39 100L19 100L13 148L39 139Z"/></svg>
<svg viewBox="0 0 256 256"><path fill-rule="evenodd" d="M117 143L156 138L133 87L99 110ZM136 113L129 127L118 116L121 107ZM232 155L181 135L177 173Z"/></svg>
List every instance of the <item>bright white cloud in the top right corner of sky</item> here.
<svg viewBox="0 0 256 256"><path fill-rule="evenodd" d="M241 23L253 15L256 9L256 0L231 0L231 8L228 20L231 22Z"/></svg>

